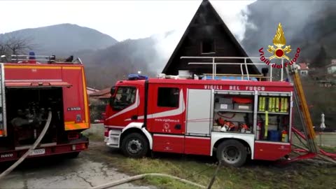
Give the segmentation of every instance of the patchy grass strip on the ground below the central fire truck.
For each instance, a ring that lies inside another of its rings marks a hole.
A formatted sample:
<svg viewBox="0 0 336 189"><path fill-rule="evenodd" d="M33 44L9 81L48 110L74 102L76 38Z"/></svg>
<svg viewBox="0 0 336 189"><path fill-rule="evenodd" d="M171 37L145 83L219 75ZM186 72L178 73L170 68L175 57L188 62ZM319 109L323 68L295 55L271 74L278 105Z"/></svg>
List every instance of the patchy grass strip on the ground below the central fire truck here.
<svg viewBox="0 0 336 189"><path fill-rule="evenodd" d="M208 186L216 171L216 159L207 156L155 153L153 158L125 158L119 151L102 144L102 136L88 136L98 147L89 153L104 158L119 172L129 175L162 173L178 176ZM328 149L330 151L331 149ZM332 150L335 151L335 148ZM97 155L99 154L99 155ZM332 188L336 186L336 166L302 161L290 165L275 162L248 161L244 167L222 166L212 188ZM195 188L174 179L148 177L137 181L141 185L158 188Z"/></svg>

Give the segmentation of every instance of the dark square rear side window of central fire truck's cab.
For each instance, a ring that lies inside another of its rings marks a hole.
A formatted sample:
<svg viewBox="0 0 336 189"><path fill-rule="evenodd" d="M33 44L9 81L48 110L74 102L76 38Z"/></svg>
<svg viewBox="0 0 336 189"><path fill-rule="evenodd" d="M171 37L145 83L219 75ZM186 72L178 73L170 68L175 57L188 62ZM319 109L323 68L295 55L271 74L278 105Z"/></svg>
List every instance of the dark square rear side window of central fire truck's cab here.
<svg viewBox="0 0 336 189"><path fill-rule="evenodd" d="M158 106L160 107L179 107L179 88L159 87Z"/></svg>

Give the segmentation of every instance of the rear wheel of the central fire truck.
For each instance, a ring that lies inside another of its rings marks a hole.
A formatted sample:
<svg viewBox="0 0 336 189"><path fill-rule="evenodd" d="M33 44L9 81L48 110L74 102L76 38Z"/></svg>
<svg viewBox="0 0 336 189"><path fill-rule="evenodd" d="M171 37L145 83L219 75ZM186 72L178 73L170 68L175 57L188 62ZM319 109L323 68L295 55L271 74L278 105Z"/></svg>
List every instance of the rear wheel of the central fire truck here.
<svg viewBox="0 0 336 189"><path fill-rule="evenodd" d="M217 148L217 159L225 165L240 167L244 165L246 156L246 147L237 140L223 141Z"/></svg>

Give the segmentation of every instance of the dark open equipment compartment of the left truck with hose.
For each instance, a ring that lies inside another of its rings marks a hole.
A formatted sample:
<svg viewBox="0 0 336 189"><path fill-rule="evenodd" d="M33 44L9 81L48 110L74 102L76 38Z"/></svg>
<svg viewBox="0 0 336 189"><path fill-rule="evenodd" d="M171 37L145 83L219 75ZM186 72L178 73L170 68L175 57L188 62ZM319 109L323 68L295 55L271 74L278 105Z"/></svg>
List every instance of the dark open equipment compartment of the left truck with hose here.
<svg viewBox="0 0 336 189"><path fill-rule="evenodd" d="M28 146L36 141L52 111L52 119L41 144L57 142L57 133L64 132L62 88L6 89L8 139L11 148Z"/></svg>

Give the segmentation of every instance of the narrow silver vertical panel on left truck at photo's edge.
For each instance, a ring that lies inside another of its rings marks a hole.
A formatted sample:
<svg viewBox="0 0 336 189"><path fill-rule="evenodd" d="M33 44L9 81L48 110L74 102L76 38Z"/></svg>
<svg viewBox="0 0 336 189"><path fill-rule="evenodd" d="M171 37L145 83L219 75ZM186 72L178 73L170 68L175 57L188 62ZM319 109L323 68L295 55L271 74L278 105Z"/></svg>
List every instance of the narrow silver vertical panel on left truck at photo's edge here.
<svg viewBox="0 0 336 189"><path fill-rule="evenodd" d="M5 70L0 63L0 137L7 136Z"/></svg>

